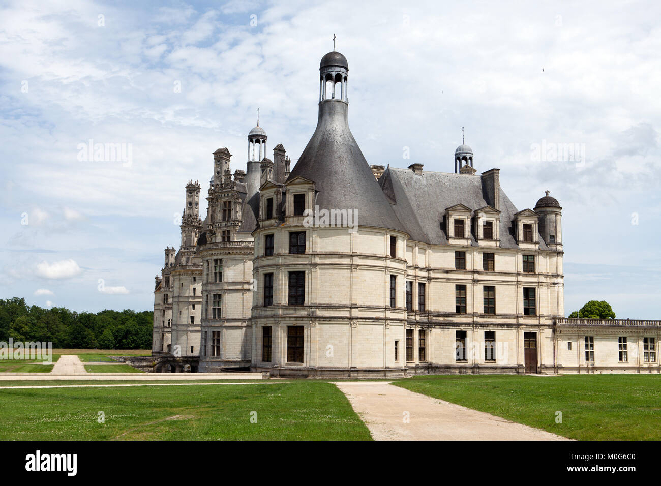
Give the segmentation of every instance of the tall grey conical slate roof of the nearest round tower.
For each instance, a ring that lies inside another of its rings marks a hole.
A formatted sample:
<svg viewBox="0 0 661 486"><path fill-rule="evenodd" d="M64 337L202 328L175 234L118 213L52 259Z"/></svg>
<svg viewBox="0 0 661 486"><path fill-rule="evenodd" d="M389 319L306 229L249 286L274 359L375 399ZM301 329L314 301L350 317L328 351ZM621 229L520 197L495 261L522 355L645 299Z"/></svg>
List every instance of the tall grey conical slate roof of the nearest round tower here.
<svg viewBox="0 0 661 486"><path fill-rule="evenodd" d="M288 181L315 181L320 210L356 210L360 226L405 231L349 130L347 110L344 101L319 102L317 128Z"/></svg>

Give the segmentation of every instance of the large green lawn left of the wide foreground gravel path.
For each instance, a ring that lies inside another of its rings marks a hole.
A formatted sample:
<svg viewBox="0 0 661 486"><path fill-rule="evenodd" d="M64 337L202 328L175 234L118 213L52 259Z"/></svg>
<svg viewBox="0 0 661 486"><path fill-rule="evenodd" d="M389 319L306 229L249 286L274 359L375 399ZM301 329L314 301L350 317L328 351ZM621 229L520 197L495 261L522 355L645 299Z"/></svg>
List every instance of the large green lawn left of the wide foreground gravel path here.
<svg viewBox="0 0 661 486"><path fill-rule="evenodd" d="M0 440L369 438L344 394L323 382L0 389Z"/></svg>

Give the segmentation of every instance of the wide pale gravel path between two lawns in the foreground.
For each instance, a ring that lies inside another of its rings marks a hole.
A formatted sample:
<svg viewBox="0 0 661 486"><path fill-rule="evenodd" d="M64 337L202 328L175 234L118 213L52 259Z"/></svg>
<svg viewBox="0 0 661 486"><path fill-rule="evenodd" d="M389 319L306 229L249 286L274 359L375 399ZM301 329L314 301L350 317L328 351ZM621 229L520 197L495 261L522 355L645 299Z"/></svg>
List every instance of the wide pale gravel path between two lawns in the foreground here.
<svg viewBox="0 0 661 486"><path fill-rule="evenodd" d="M336 385L374 440L568 440L388 382Z"/></svg>

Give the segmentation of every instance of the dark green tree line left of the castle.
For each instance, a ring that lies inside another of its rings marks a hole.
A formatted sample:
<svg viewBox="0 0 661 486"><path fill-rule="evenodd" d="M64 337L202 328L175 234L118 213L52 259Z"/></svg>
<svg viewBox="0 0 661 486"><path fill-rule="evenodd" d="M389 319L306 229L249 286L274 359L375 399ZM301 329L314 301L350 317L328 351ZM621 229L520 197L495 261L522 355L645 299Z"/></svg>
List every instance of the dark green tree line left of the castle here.
<svg viewBox="0 0 661 486"><path fill-rule="evenodd" d="M52 341L54 348L151 349L152 311L97 313L0 300L0 341Z"/></svg>

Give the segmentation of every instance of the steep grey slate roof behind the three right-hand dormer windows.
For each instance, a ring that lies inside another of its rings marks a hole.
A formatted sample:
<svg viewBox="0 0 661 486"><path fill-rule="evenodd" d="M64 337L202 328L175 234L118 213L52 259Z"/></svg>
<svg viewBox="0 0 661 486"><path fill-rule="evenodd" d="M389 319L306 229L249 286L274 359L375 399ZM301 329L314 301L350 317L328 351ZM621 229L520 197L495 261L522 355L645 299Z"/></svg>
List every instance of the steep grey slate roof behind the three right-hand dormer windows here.
<svg viewBox="0 0 661 486"><path fill-rule="evenodd" d="M421 243L447 245L442 229L446 208L463 204L471 210L484 208L482 178L476 175L424 171L416 175L410 169L388 167L379 179L383 192L393 204L400 221L405 222L410 239ZM518 212L510 198L500 188L500 247L518 248L512 233L513 215ZM471 234L471 245L477 241ZM546 250L541 236L539 249Z"/></svg>

